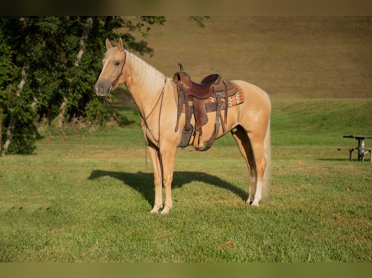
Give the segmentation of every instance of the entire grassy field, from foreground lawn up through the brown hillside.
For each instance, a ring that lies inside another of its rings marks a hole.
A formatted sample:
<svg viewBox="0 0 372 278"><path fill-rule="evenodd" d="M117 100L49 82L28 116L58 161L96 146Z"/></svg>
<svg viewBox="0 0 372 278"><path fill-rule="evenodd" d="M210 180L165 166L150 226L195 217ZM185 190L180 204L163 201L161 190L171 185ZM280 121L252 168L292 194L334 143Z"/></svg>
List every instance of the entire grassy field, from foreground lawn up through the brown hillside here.
<svg viewBox="0 0 372 278"><path fill-rule="evenodd" d="M212 17L203 30L186 18L153 28L155 55L145 59L168 76L184 62L195 79L218 71L269 93L269 196L258 208L244 204L247 169L226 135L205 153L177 150L173 208L152 215L151 162L138 126L46 127L35 155L0 157L0 262L371 263L372 164L337 151L356 147L343 135L372 133L369 23ZM217 28L225 39L209 47ZM231 43L229 31L242 30ZM185 43L191 35L193 45ZM233 67L222 54L230 52L245 53L254 70ZM135 108L117 113L139 121Z"/></svg>

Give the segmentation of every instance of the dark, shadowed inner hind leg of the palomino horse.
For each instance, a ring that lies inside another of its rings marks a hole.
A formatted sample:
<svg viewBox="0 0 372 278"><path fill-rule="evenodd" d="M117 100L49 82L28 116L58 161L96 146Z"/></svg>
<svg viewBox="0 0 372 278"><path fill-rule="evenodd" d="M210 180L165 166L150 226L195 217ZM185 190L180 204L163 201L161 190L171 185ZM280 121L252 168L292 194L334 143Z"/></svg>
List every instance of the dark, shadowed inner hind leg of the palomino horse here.
<svg viewBox="0 0 372 278"><path fill-rule="evenodd" d="M251 204L254 201L254 194L257 185L257 171L252 145L248 138L247 132L240 125L238 125L231 133L237 142L241 155L244 157L245 162L247 163L249 171L249 193L246 203Z"/></svg>

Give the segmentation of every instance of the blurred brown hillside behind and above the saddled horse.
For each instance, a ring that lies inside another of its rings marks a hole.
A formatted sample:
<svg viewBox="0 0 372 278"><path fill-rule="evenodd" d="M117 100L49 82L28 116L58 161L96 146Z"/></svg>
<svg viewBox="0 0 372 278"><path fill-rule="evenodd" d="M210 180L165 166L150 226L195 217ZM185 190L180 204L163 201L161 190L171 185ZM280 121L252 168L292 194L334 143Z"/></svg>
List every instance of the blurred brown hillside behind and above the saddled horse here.
<svg viewBox="0 0 372 278"><path fill-rule="evenodd" d="M195 81L220 73L271 97L372 97L370 17L167 17L146 41L141 58L169 77L182 62Z"/></svg>

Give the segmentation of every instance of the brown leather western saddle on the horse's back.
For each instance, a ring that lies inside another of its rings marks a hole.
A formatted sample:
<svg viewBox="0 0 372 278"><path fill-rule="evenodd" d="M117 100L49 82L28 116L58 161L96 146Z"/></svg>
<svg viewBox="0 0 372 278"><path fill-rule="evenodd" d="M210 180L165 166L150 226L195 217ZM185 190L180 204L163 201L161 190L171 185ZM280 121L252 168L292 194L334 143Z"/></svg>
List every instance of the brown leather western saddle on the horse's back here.
<svg viewBox="0 0 372 278"><path fill-rule="evenodd" d="M219 74L211 74L203 78L201 83L196 83L190 79L190 76L184 71L182 63L178 63L180 71L173 76L173 81L177 86L178 93L178 125L182 110L185 107L186 124L182 131L182 139L178 147L186 147L194 133L194 127L191 122L191 115L195 117L195 139L194 148L198 151L207 151L217 138L220 131L220 121L223 132L226 131L225 123L227 121L228 97L237 93L237 88L232 82L222 79ZM213 97L213 103L205 103L205 100ZM221 110L225 109L225 117L222 119ZM214 131L204 146L202 127L208 122L207 112L216 111L216 121Z"/></svg>

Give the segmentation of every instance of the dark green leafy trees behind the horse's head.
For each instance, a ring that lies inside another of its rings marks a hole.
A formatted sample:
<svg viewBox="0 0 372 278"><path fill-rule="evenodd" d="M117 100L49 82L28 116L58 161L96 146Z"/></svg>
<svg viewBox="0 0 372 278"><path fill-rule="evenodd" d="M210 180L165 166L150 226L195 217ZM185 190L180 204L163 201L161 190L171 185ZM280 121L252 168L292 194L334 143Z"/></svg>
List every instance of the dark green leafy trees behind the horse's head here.
<svg viewBox="0 0 372 278"><path fill-rule="evenodd" d="M165 21L164 16L1 17L1 153L33 153L35 121L42 117L102 119L92 87L101 71L105 39L121 36L130 50L152 55L146 41L135 40L129 31L145 37L151 25Z"/></svg>

